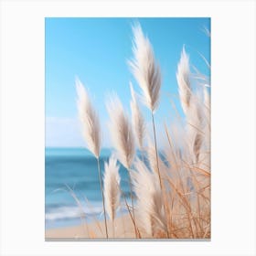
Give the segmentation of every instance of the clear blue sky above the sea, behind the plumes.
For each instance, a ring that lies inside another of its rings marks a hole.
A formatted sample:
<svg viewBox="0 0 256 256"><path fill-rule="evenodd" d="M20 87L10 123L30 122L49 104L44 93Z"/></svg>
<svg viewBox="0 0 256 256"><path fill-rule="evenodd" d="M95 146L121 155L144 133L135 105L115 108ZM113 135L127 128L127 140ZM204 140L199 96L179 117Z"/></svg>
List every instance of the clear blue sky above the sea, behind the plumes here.
<svg viewBox="0 0 256 256"><path fill-rule="evenodd" d="M161 101L155 113L156 129L172 123L177 101L176 65L185 45L190 61L209 75L202 54L210 61L209 18L46 18L46 146L84 146L76 107L75 78L89 89L99 112L103 146L110 146L107 129L107 97L115 91L130 112L129 81L139 87L127 65L132 59L132 26L139 22L153 45L160 63L163 84ZM199 54L200 53L200 54ZM144 117L150 121L142 105Z"/></svg>

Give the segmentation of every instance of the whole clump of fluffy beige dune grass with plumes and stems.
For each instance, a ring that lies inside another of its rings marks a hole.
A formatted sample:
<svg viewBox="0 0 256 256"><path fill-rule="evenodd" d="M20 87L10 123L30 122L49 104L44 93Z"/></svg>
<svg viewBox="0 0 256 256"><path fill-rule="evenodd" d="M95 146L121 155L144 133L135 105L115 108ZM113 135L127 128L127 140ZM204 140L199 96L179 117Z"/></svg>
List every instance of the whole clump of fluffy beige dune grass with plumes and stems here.
<svg viewBox="0 0 256 256"><path fill-rule="evenodd" d="M123 111L122 103L116 95L107 102L114 156L110 158L109 164L105 164L103 184L99 170L105 237L109 237L107 217L112 222L112 237L115 237L115 211L120 206L120 197L123 195L116 162L118 159L127 169L130 178L132 206L128 205L125 197L124 201L133 223L133 237L209 239L209 82L203 74L195 75L191 72L189 57L183 48L177 63L176 80L179 101L186 118L179 119L170 126L163 123L165 129L161 132L165 133L167 146L160 150L156 137L156 132L160 131L155 131L155 110L161 100L161 69L155 60L153 47L148 37L144 37L139 24L133 27L133 36L133 59L129 61L129 66L141 89L141 95L137 97L131 85L132 117ZM203 85L201 80L204 80ZM100 120L81 82L77 91L84 138L99 164ZM140 101L152 116L152 141L139 109ZM136 155L136 144L142 152L141 158ZM91 238L95 238L97 232L91 230L89 233L93 234ZM125 236L117 238L122 237Z"/></svg>

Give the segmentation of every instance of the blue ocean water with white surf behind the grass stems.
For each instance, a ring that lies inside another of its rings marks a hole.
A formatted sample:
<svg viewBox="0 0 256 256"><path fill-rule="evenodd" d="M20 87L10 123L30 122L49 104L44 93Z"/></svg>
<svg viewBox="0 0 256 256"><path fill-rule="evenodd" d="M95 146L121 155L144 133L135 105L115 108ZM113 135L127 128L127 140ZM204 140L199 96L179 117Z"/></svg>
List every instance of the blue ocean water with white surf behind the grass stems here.
<svg viewBox="0 0 256 256"><path fill-rule="evenodd" d="M101 175L112 151L101 150ZM128 173L120 165L121 187L130 201ZM123 214L126 208L119 208ZM46 229L79 225L81 221L103 219L97 162L85 148L46 148L45 223Z"/></svg>

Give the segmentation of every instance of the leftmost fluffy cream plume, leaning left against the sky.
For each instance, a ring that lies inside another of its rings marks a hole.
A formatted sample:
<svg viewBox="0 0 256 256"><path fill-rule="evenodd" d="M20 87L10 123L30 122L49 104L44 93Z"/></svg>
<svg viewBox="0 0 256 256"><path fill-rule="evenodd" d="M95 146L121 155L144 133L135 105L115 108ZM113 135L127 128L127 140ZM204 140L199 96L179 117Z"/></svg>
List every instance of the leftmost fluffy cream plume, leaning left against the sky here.
<svg viewBox="0 0 256 256"><path fill-rule="evenodd" d="M88 91L84 88L79 79L76 79L76 88L82 134L88 149L98 158L101 150L101 125L99 117L93 109Z"/></svg>

